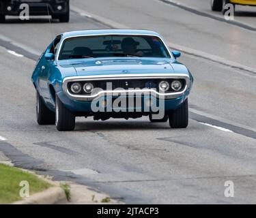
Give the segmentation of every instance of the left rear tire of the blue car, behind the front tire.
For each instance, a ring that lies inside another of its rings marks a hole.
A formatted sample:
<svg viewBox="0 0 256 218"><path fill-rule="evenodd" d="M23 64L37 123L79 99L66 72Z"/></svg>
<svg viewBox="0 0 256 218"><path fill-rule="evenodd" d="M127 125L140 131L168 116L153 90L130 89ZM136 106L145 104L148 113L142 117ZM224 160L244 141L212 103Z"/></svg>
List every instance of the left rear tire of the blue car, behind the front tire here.
<svg viewBox="0 0 256 218"><path fill-rule="evenodd" d="M39 125L55 124L55 112L45 106L44 100L38 91L36 92L36 119Z"/></svg>

